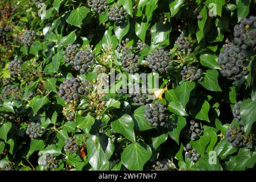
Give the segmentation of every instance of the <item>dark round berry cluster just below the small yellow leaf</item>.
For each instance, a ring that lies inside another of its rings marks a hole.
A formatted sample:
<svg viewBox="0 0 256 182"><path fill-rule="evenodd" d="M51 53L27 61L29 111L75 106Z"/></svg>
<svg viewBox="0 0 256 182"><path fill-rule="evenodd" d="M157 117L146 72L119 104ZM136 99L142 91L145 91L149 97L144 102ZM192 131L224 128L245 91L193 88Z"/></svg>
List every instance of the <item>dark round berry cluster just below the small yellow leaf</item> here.
<svg viewBox="0 0 256 182"><path fill-rule="evenodd" d="M158 101L155 104L146 104L144 118L152 126L164 126L168 121L167 109Z"/></svg>

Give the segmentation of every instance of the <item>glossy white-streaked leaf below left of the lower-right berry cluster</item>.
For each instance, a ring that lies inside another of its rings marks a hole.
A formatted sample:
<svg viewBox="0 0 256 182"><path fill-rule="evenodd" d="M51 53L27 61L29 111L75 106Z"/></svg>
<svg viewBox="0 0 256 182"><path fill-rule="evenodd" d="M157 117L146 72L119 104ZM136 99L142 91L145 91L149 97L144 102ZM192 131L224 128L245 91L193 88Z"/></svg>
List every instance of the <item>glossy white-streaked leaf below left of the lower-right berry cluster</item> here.
<svg viewBox="0 0 256 182"><path fill-rule="evenodd" d="M216 151L217 156L219 156L220 159L225 159L226 156L236 152L237 148L233 147L230 142L224 139L218 143L218 145L214 148L214 151Z"/></svg>

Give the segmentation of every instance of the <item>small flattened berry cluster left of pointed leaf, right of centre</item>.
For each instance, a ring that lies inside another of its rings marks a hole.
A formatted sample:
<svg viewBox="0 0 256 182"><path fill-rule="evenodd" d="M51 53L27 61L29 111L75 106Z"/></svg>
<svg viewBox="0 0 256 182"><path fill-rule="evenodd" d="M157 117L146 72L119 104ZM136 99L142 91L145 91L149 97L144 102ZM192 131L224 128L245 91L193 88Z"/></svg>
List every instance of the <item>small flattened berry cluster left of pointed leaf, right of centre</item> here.
<svg viewBox="0 0 256 182"><path fill-rule="evenodd" d="M202 73L202 69L197 69L191 65L189 65L189 67L184 66L183 70L181 70L182 80L184 81L203 81L204 78L201 76Z"/></svg>

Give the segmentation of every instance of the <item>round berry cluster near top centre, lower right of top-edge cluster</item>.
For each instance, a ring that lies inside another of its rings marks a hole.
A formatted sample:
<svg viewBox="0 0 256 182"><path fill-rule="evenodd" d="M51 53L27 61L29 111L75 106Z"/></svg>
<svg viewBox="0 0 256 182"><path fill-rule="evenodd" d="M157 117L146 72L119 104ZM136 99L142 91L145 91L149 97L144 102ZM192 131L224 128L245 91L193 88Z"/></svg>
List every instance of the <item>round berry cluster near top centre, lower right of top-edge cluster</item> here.
<svg viewBox="0 0 256 182"><path fill-rule="evenodd" d="M109 10L108 17L110 21L121 23L125 20L126 14L127 13L123 7L115 5Z"/></svg>

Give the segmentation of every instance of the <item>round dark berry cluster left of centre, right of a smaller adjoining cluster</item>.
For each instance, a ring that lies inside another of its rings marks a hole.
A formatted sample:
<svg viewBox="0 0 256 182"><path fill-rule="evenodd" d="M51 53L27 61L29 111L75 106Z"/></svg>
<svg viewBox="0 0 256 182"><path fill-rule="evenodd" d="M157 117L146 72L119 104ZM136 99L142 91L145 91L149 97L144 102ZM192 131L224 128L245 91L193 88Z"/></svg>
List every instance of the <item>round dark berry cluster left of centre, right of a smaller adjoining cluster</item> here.
<svg viewBox="0 0 256 182"><path fill-rule="evenodd" d="M76 71L84 74L92 71L91 66L95 63L94 59L95 54L92 52L90 48L86 50L81 50L76 53L76 56L73 61L74 68Z"/></svg>

